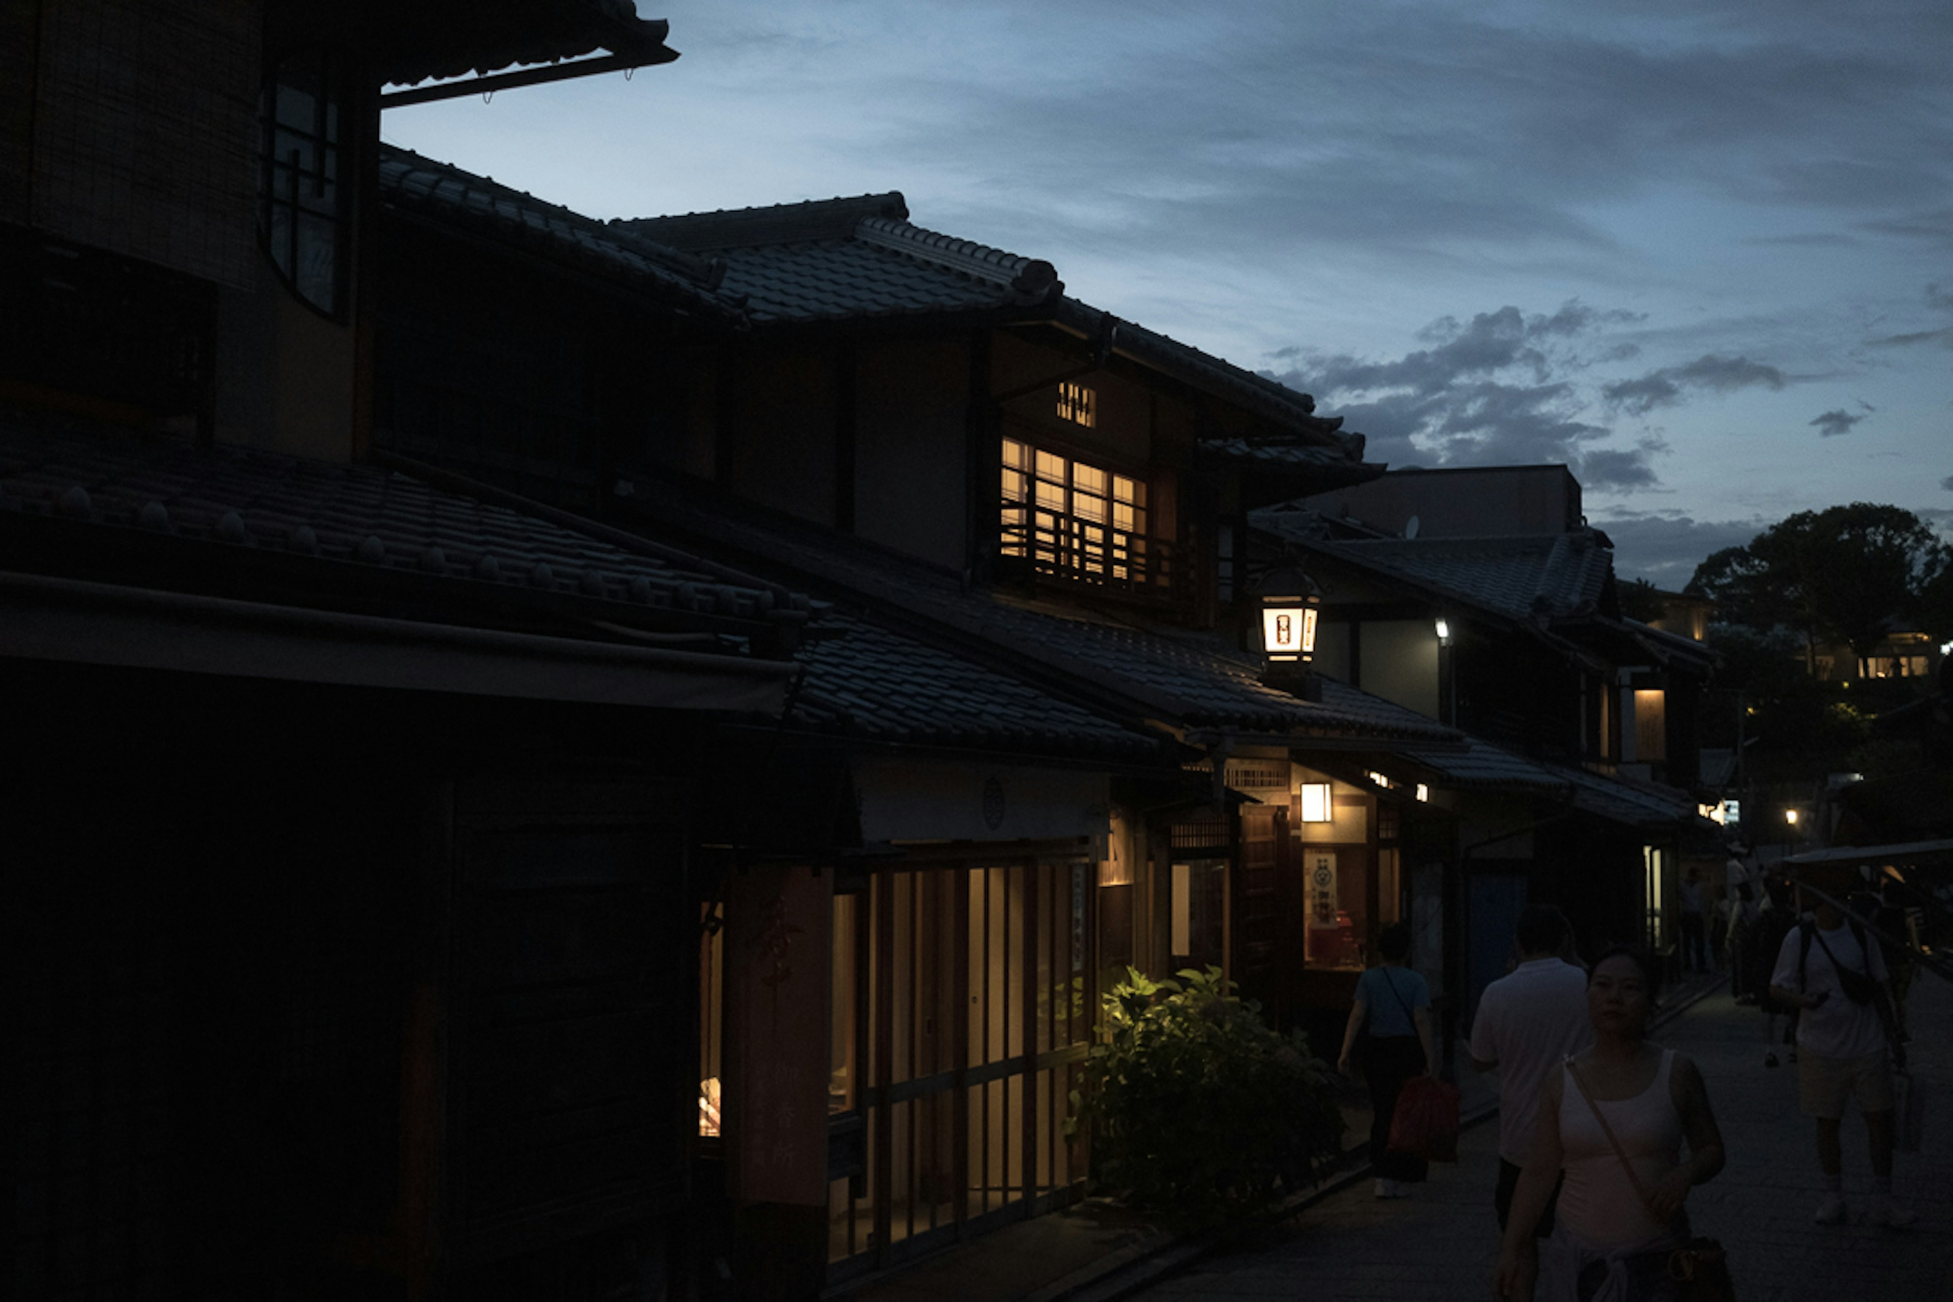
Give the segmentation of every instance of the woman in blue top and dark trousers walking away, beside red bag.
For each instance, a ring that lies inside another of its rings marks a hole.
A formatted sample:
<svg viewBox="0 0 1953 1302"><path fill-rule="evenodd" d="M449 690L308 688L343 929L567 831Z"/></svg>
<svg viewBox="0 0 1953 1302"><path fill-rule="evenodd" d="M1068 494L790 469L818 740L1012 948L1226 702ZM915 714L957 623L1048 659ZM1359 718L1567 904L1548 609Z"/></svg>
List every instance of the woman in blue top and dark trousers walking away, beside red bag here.
<svg viewBox="0 0 1953 1302"><path fill-rule="evenodd" d="M1350 1025L1344 1027L1344 1048L1336 1058L1336 1070L1350 1074L1350 1054L1367 1017L1363 1079L1369 1081L1373 1109L1369 1165L1377 1173L1377 1197L1402 1199L1410 1193L1410 1185L1424 1183L1428 1163L1424 1158L1391 1152L1391 1117L1396 1113L1396 1095L1406 1079L1437 1074L1437 1054L1432 1048L1432 988L1404 966L1410 955L1410 923L1385 927L1377 937L1377 953L1383 962L1357 978L1355 1005L1350 1009Z"/></svg>

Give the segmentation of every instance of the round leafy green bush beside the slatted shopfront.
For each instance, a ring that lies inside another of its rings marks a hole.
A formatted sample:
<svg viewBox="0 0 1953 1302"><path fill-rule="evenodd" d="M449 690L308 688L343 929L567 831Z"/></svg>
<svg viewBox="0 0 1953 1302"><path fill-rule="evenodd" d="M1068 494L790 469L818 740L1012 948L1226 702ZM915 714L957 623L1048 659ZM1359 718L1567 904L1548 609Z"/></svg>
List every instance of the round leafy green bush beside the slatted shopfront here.
<svg viewBox="0 0 1953 1302"><path fill-rule="evenodd" d="M1342 1152L1328 1068L1277 1035L1221 968L1154 982L1137 968L1101 997L1086 1089L1066 1134L1092 1130L1101 1185L1174 1228L1271 1206Z"/></svg>

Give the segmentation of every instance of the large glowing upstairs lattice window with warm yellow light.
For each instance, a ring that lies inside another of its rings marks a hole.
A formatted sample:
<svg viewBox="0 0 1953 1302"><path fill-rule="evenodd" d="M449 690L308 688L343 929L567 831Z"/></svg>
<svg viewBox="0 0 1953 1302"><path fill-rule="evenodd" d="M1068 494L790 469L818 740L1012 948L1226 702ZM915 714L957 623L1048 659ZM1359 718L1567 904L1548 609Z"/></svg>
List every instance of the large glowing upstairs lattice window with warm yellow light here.
<svg viewBox="0 0 1953 1302"><path fill-rule="evenodd" d="M1002 554L1045 574L1156 582L1146 549L1146 484L1004 439Z"/></svg>

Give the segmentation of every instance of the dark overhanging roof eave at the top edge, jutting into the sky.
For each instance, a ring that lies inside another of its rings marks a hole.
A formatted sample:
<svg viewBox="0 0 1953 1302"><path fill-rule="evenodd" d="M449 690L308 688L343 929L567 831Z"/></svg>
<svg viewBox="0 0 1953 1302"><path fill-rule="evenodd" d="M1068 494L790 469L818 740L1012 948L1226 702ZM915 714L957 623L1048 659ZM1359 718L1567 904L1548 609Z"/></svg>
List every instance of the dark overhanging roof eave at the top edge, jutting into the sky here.
<svg viewBox="0 0 1953 1302"><path fill-rule="evenodd" d="M561 62L596 51L670 62L672 25L639 18L633 0L414 0L389 6L379 27L381 76L391 84Z"/></svg>

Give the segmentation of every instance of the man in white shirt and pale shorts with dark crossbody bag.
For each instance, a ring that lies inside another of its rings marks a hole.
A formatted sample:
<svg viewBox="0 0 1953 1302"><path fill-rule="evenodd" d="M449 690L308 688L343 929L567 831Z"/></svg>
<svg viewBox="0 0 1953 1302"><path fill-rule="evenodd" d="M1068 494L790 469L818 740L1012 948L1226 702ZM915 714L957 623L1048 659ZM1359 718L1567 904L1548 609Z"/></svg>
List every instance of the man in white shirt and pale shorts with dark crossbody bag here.
<svg viewBox="0 0 1953 1302"><path fill-rule="evenodd" d="M1861 943L1857 927L1830 904L1818 904L1814 919L1791 927L1769 974L1769 996L1803 1009L1797 1017L1797 1097L1805 1117L1818 1124L1820 1226L1846 1220L1838 1130L1848 1101L1865 1115L1871 1144L1869 1222L1892 1230L1912 1224L1912 1212L1892 1202L1892 1072L1879 1011L1885 982L1885 955L1875 943ZM1853 999L1853 994L1863 997Z"/></svg>

